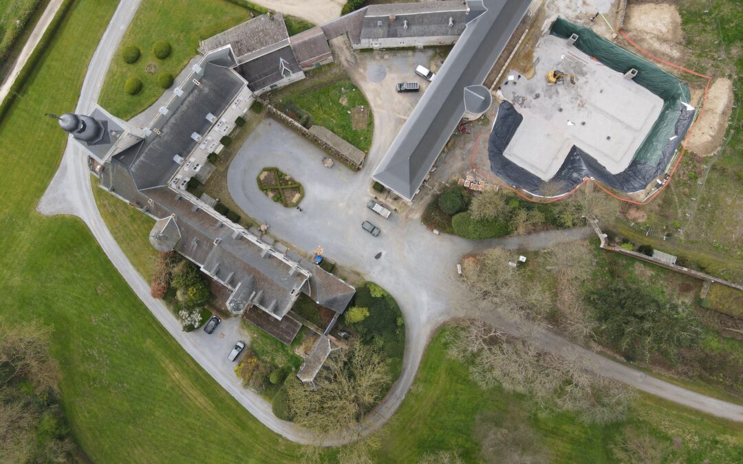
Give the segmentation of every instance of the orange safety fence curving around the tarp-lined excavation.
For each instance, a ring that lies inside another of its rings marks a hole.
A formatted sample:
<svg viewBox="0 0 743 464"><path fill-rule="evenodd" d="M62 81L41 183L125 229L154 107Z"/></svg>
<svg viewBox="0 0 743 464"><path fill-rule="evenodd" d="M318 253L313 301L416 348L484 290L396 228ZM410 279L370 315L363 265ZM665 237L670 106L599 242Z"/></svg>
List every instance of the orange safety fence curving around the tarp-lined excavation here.
<svg viewBox="0 0 743 464"><path fill-rule="evenodd" d="M692 71L692 70L690 70L688 68L684 68L683 66L676 65L675 63L669 62L669 61L667 61L665 59L658 58L658 56L653 55L649 51L647 51L644 48L640 47L640 45L637 45L637 43L635 43L635 41L633 41L632 39L630 39L629 36L627 35L627 33L624 32L623 30L620 30L619 33L624 37L624 39L627 42L629 42L630 45L632 45L633 47L637 48L637 50L639 50L640 53L643 53L643 55L648 56L650 59L653 59L656 62L660 62L663 65L667 65L667 66L670 66L672 68L676 68L678 70L684 71L686 73L690 73L690 74L692 74L694 76L704 77L704 79L707 79L707 85L704 86L704 99L702 99L702 105L701 105L701 108L699 109L699 113L697 114L697 117L695 118L695 120L692 123L691 127L687 131L687 134L684 137L684 140L681 142L681 154L678 155L678 158L676 159L675 163L673 163L673 166L671 168L671 171L670 171L668 180L666 180L666 182L663 183L663 185L661 185L661 188L660 189L656 190L655 193L653 193L652 195L650 195L646 200L644 200L644 201L636 201L636 200L630 200L629 198L623 198L623 197L620 197L618 195L614 195L614 193L612 193L608 189L606 189L603 185L601 185L601 183L597 182L596 180L593 180L594 185L599 186L600 189L602 189L604 192L606 192L607 194L611 195L612 197L616 198L617 200L621 200L621 201L624 201L626 203L632 203L632 204L635 204L635 205L646 205L646 204L650 203L659 193L661 193L661 191L663 189L665 189L666 186L669 183L671 183L671 179L673 178L673 174L675 173L676 168L678 168L679 163L681 163L681 158L684 157L684 154L687 151L687 140L689 139L690 134L692 134L692 131L694 130L694 126L697 124L699 118L701 118L701 115L704 114L704 107L707 106L707 94L710 91L710 83L712 82L712 76L707 76L705 74L701 74L701 73L698 73L696 71ZM480 174L482 177L485 177L486 179L492 179L492 177L490 177L489 175L487 175L484 172L480 171L478 169L477 165L475 164L475 154L477 152L479 141L480 141L480 138L477 137L477 139L475 140L475 146L473 147L472 156L470 157L470 166L472 167L472 169L477 174ZM536 200L533 197L528 197L527 195L524 195L521 192L521 190L514 189L512 186L508 186L507 185L507 188L510 189L510 190L512 190L514 193L516 193L516 195L519 195L519 197L522 197L525 200L531 201L533 203L553 203L554 201L562 200L563 198L568 197L569 195L572 195L577 189L580 189L580 187L583 186L583 184L586 183L586 182L588 182L589 180L592 180L592 179L590 177L585 177L583 179L583 182L581 182L577 186L575 186L575 188L572 189L570 192L566 193L565 195L560 195L559 197L550 198L548 200Z"/></svg>

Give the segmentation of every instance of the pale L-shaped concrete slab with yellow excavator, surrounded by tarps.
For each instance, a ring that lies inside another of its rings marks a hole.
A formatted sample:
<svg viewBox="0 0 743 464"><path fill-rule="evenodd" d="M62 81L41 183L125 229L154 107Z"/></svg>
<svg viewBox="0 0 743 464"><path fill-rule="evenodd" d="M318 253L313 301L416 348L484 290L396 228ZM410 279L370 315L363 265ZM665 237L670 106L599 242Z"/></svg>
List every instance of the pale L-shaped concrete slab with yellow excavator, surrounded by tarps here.
<svg viewBox="0 0 743 464"><path fill-rule="evenodd" d="M542 180L554 176L572 146L612 174L625 170L663 100L559 37L543 36L534 59L532 79L512 71L500 88L524 117L505 157ZM549 84L545 76L553 69L573 74L575 84Z"/></svg>

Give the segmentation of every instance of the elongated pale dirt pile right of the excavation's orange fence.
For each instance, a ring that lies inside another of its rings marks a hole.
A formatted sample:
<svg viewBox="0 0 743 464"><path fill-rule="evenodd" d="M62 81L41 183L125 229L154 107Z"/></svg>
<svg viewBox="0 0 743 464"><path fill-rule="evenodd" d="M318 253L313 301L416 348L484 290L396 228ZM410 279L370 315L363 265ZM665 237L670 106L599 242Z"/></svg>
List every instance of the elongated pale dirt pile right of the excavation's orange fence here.
<svg viewBox="0 0 743 464"><path fill-rule="evenodd" d="M715 153L722 145L727 120L733 111L733 82L719 78L710 85L704 111L687 139L687 150L701 157Z"/></svg>

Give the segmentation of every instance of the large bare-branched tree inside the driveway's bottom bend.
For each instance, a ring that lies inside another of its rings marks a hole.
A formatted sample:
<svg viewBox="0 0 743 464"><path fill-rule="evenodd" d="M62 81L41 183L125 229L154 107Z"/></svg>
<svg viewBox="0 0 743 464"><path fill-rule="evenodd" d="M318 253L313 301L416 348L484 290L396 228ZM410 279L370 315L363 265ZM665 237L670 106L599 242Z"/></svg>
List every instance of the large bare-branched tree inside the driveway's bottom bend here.
<svg viewBox="0 0 743 464"><path fill-rule="evenodd" d="M351 350L331 353L314 385L289 385L289 407L295 422L317 434L358 433L366 411L389 385L386 362L371 347L356 344Z"/></svg>

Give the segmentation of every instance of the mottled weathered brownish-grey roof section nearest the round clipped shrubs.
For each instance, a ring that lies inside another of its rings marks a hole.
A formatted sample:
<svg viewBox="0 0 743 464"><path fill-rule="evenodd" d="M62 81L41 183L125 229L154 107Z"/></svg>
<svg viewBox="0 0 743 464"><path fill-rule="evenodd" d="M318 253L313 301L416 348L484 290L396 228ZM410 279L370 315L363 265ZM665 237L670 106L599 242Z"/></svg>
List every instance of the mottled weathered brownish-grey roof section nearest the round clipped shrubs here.
<svg viewBox="0 0 743 464"><path fill-rule="evenodd" d="M232 45L235 56L239 59L288 37L282 13L274 13L273 16L263 14L202 40L199 51L207 53L224 45Z"/></svg>

